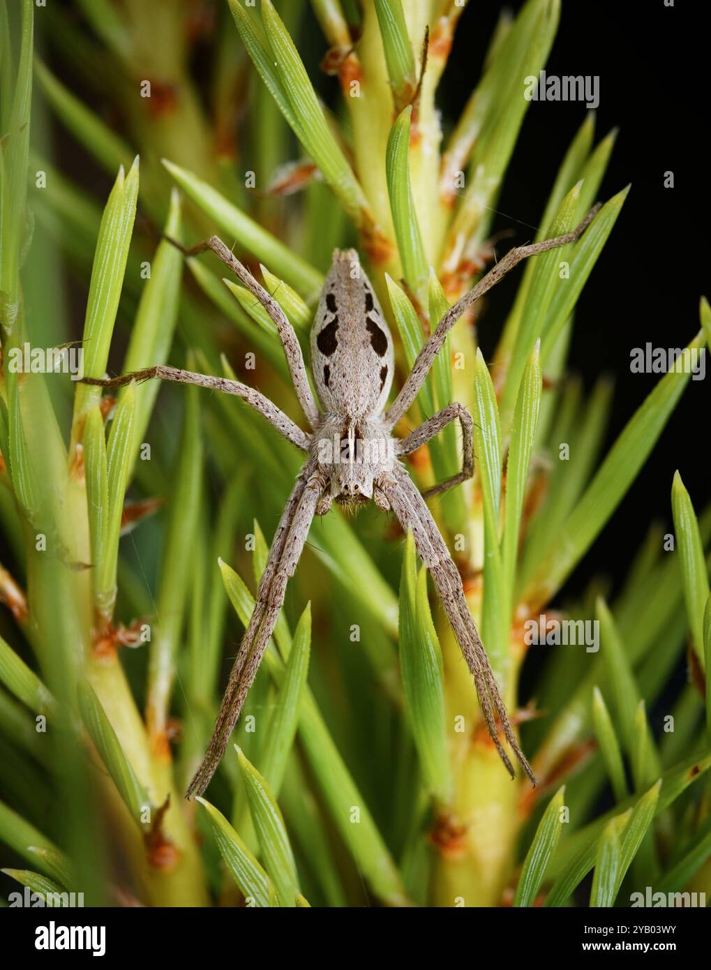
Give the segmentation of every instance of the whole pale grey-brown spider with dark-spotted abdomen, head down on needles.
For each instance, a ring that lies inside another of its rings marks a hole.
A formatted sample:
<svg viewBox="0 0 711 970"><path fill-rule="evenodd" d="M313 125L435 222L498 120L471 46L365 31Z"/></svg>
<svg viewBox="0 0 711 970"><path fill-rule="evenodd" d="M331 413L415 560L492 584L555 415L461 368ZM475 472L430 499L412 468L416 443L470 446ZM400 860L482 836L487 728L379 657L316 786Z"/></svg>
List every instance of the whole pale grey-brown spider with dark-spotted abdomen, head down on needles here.
<svg viewBox="0 0 711 970"><path fill-rule="evenodd" d="M296 396L311 427L310 433L302 431L259 391L224 377L159 365L120 377L83 378L88 384L117 387L134 380L158 377L235 394L307 454L276 528L254 611L242 636L210 745L188 787L187 798L202 794L210 783L275 629L286 584L299 562L311 521L314 515L328 512L333 501L351 507L374 501L384 511L394 512L403 529L412 532L417 554L432 573L437 595L469 666L484 720L501 760L514 778L513 766L501 745L497 716L506 741L535 785L533 769L511 727L494 672L469 613L459 571L425 503L425 499L459 485L473 474L471 415L462 404L448 404L410 435L394 438L392 432L417 397L447 334L465 310L522 259L577 240L598 209L596 206L591 210L580 225L565 236L510 249L442 316L417 355L403 388L387 409L393 382L393 340L355 249L334 252L311 328L311 372L321 404L319 408L308 383L299 341L274 297L216 236L192 248L171 240L186 255L197 255L210 249L265 308L275 323ZM452 421L459 421L462 428L462 470L420 492L399 459L421 447Z"/></svg>

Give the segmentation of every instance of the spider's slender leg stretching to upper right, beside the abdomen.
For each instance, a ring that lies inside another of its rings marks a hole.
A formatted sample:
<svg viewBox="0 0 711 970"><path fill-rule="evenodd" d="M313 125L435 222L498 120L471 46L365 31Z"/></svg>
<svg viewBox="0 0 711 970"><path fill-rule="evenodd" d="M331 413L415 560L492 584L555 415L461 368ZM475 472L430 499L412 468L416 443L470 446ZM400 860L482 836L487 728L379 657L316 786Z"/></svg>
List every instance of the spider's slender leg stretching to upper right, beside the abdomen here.
<svg viewBox="0 0 711 970"><path fill-rule="evenodd" d="M516 246L514 249L509 249L503 259L501 259L496 266L492 267L487 275L483 276L476 286L469 290L469 293L466 293L462 299L454 305L454 307L450 307L447 310L437 324L435 332L432 334L430 339L428 339L427 343L425 343L417 355L415 362L412 365L412 370L409 372L409 375L404 382L403 389L383 418L389 428L393 428L398 421L400 421L404 415L404 412L408 410L410 404L412 404L417 397L425 378L430 372L430 368L432 367L437 353L444 346L444 340L446 339L447 334L457 320L459 320L465 310L469 309L469 307L476 300L478 300L479 297L483 296L487 290L490 290L492 286L496 286L496 284L500 282L501 279L507 273L509 273L517 263L520 263L522 259L526 259L528 256L535 256L539 252L545 252L546 249L555 249L557 246L566 245L568 242L575 242L575 240L582 235L582 233L588 228L590 223L598 214L599 208L600 207L598 205L591 209L580 225L573 229L571 233L566 233L565 236L558 236L553 240L532 242L530 245L520 245Z"/></svg>

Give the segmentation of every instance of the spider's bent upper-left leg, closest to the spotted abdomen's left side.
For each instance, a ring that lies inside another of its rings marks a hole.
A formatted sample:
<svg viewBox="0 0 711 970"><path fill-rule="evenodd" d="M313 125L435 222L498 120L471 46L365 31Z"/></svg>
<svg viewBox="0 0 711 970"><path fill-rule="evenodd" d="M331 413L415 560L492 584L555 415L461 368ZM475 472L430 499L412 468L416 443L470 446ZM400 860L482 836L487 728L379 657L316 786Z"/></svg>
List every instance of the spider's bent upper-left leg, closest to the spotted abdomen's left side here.
<svg viewBox="0 0 711 970"><path fill-rule="evenodd" d="M215 256L222 260L225 266L232 270L249 292L259 301L262 307L267 310L275 323L276 331L281 340L281 346L284 348L284 356L286 357L286 363L291 373L291 379L294 383L294 390L299 399L299 404L302 405L302 409L307 416L311 428L315 428L319 422L320 413L311 393L310 384L308 383L304 355L302 354L302 349L294 332L294 328L286 318L284 311L276 303L275 298L257 282L246 267L242 266L240 260L237 259L218 236L210 236L210 239L205 240L205 242L198 242L197 245L190 248L185 247L177 240L171 239L170 236L167 236L166 239L177 246L186 256L196 256L198 253L210 249Z"/></svg>

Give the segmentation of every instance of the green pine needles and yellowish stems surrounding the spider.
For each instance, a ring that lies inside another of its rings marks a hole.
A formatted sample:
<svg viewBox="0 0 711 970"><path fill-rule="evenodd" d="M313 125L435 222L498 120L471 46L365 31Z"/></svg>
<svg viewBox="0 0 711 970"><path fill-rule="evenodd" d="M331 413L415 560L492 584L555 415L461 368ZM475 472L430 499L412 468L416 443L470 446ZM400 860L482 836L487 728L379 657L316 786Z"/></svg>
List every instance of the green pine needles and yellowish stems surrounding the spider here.
<svg viewBox="0 0 711 970"><path fill-rule="evenodd" d="M598 620L601 649L540 673L545 713L523 728L534 791L511 784L480 729L469 673L432 615L411 544L394 546L367 509L314 524L238 752L196 805L181 792L299 458L239 401L166 388L156 404L159 388L141 384L110 403L66 375L10 366L26 342L76 336L69 267L85 299L88 375L102 376L127 337L124 371L170 359L229 375L228 360L244 361L247 382L294 413L270 321L213 264L184 261L159 239L215 230L264 264L305 341L332 248L357 242L411 365L430 321L478 272L528 105L522 79L546 61L558 0L501 18L441 151L436 85L461 14L449 0L312 0L343 94L338 117L324 112L293 40L303 5L277 4L279 16L269 0L215 4L207 101L190 71L189 5L75 7L88 29L31 0L0 3L0 839L27 866L6 871L113 904L342 906L362 902L365 885L387 905L523 906L541 892L546 905L567 905L593 869L596 906L646 885L707 890L711 510L696 515L678 473L674 554L653 531L611 603L594 587L566 601L567 618ZM37 54L33 67L33 21L90 96ZM119 133L89 107L95 98L120 113ZM54 166L48 111L114 179L103 210L81 172ZM586 119L538 239L591 208L613 141L594 146ZM298 201L283 198L298 187ZM463 319L412 408L414 421L458 400L474 416L475 477L436 514L509 710L526 622L560 596L689 379L663 376L600 457L611 388L600 380L584 399L566 355L575 304L627 191L579 242L525 268L496 366ZM704 301L690 347L710 336ZM546 461L561 441L576 460ZM455 473L455 429L415 458L423 486ZM673 733L656 737L646 708L688 639L693 683L676 700ZM608 782L614 807L598 815Z"/></svg>

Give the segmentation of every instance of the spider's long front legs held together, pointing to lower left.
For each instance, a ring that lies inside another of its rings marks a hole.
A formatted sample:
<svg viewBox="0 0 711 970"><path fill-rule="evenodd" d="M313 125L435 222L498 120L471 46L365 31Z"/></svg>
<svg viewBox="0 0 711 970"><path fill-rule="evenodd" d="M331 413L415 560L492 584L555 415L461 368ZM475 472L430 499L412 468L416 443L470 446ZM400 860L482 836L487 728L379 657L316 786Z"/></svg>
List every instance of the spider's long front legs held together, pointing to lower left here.
<svg viewBox="0 0 711 970"><path fill-rule="evenodd" d="M252 686L259 664L262 663L284 601L286 584L294 574L301 557L325 484L323 474L314 469L315 461L310 459L302 469L281 515L267 566L259 583L254 610L242 636L210 744L190 782L185 795L187 798L202 794L208 787L210 778L225 752L230 734L238 722L244 699Z"/></svg>

